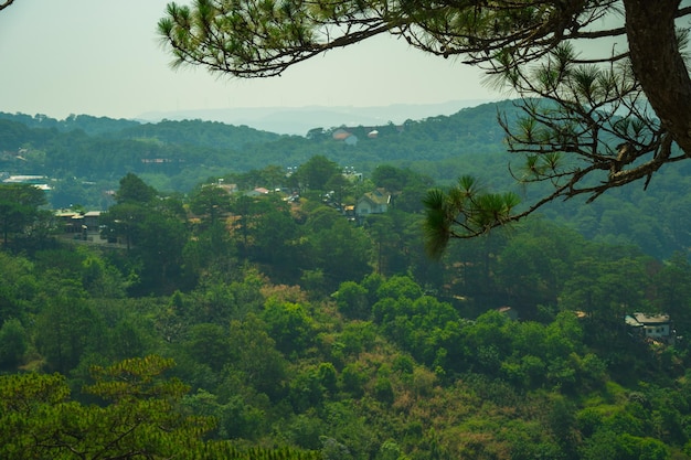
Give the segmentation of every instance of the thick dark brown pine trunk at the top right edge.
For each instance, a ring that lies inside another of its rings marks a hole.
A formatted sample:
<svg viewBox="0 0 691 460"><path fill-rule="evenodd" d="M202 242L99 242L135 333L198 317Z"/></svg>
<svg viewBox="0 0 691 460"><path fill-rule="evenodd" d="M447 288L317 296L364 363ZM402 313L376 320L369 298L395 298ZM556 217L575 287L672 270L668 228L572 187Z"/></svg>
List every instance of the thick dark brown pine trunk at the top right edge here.
<svg viewBox="0 0 691 460"><path fill-rule="evenodd" d="M672 139L691 157L691 78L674 33L680 0L624 0L634 74Z"/></svg>

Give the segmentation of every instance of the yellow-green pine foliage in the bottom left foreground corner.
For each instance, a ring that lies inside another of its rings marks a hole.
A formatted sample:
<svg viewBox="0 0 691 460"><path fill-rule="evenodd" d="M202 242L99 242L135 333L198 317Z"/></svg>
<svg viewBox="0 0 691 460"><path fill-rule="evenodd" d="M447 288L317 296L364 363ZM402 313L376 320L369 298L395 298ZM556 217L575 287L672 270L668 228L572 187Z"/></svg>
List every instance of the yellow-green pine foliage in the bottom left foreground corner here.
<svg viewBox="0 0 691 460"><path fill-rule="evenodd" d="M188 392L163 378L172 360L131 359L92 370L86 393L106 405L70 400L62 375L0 377L0 457L14 459L310 459L290 450L243 450L204 441L209 417L187 416L178 404Z"/></svg>

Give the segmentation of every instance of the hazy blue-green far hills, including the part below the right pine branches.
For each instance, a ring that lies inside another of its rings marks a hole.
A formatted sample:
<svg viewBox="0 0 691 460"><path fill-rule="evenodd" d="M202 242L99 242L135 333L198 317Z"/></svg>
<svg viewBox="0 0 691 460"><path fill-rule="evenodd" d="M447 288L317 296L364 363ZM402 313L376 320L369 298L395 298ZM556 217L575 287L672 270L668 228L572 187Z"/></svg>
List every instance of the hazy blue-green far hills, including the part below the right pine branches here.
<svg viewBox="0 0 691 460"><path fill-rule="evenodd" d="M315 156L365 176L381 164L411 169L439 185L471 174L490 188L513 188L534 197L540 191L515 188L508 170L519 159L506 152L497 117L514 110L511 101L490 103L402 125L316 127L305 137L202 120L140 124L0 114L0 172L49 176L55 207L103 208L103 191L128 172L159 190L187 193L209 178L297 167ZM691 247L690 168L662 169L647 191L632 184L587 206L572 200L543 213L589 238L634 244L665 259Z"/></svg>

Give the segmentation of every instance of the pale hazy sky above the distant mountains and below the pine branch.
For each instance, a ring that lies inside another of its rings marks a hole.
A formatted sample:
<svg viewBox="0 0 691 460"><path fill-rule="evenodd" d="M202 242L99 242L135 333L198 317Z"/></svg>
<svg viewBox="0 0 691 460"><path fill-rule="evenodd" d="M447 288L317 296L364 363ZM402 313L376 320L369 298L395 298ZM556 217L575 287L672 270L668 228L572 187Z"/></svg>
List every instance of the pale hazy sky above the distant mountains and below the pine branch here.
<svg viewBox="0 0 691 460"><path fill-rule="evenodd" d="M0 111L136 118L233 107L387 106L490 99L477 69L381 38L284 76L170 68L156 24L168 0L17 0L0 12ZM189 1L180 1L180 4Z"/></svg>

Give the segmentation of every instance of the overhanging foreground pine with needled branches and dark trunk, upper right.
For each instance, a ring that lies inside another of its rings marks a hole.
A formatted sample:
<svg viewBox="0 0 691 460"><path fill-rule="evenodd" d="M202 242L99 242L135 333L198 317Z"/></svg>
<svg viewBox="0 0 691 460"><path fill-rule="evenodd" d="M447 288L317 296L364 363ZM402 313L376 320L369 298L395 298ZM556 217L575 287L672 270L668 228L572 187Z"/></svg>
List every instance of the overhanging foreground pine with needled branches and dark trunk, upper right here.
<svg viewBox="0 0 691 460"><path fill-rule="evenodd" d="M480 66L520 97L499 116L511 173L551 186L521 205L481 188L434 191L430 252L518 221L557 199L645 181L691 154L691 14L680 0L210 1L170 3L159 33L174 64L236 77L280 75L326 51L390 33L434 55ZM458 200L459 195L466 199ZM481 215L481 218L478 216ZM436 242L436 243L435 243Z"/></svg>

